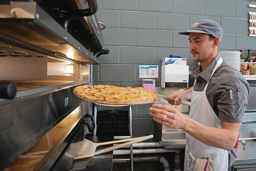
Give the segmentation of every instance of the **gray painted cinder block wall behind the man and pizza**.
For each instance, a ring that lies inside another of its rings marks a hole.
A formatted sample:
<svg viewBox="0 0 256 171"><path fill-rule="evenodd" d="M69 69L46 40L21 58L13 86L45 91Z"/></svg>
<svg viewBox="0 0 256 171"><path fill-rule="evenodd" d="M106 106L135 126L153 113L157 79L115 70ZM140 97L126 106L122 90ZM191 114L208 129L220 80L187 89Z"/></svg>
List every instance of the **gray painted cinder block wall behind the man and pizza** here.
<svg viewBox="0 0 256 171"><path fill-rule="evenodd" d="M99 57L93 66L94 84L140 87L139 65L158 65L161 81L161 59L169 54L187 58L189 70L195 63L189 52L188 36L179 35L202 18L215 20L224 36L220 50L256 50L256 37L248 36L248 12L256 12L248 0L97 0L104 48L110 54ZM133 135L154 133L154 121L148 105L132 106ZM127 107L99 106L99 110L127 110Z"/></svg>

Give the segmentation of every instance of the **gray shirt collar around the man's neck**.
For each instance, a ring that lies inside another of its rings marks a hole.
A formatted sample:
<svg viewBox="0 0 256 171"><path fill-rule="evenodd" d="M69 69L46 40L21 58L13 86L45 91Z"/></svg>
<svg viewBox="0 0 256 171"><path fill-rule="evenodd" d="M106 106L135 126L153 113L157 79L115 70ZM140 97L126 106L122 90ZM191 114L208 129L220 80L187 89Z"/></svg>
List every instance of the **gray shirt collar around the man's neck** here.
<svg viewBox="0 0 256 171"><path fill-rule="evenodd" d="M218 54L214 61L212 61L204 71L202 70L201 65L199 65L196 69L196 80L201 81L202 79L204 79L206 82L209 82L211 73L212 71L214 71L214 67L216 66L220 58L221 56Z"/></svg>

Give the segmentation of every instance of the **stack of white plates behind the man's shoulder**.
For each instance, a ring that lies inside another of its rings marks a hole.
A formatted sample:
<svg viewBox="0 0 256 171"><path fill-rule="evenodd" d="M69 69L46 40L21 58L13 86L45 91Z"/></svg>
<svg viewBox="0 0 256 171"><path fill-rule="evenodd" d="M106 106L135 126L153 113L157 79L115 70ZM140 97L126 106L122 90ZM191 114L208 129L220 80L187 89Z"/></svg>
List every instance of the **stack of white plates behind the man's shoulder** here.
<svg viewBox="0 0 256 171"><path fill-rule="evenodd" d="M240 52L239 51L221 51L219 52L222 59L229 63L230 66L240 71Z"/></svg>

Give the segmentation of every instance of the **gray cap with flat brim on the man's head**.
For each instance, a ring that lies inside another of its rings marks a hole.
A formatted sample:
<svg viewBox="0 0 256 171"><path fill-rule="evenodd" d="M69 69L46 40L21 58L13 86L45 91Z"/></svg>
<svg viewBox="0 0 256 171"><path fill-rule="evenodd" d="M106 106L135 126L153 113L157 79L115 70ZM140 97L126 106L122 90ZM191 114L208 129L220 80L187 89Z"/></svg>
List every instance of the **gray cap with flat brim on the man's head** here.
<svg viewBox="0 0 256 171"><path fill-rule="evenodd" d="M214 37L220 37L222 39L223 30L221 26L210 20L210 19L200 19L198 22L194 23L190 30L179 32L179 34L189 35L189 33L204 33L210 34Z"/></svg>

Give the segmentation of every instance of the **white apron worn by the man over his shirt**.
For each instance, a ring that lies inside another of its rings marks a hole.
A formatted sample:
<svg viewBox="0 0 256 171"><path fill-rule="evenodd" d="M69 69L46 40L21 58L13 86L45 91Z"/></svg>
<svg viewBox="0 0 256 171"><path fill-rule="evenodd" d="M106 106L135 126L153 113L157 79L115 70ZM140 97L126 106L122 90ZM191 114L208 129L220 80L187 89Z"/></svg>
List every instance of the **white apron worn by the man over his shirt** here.
<svg viewBox="0 0 256 171"><path fill-rule="evenodd" d="M211 77L215 73L215 71L220 67L222 61L222 58L220 58L214 70L211 73ZM207 82L204 91L192 91L189 118L194 119L206 126L222 127L219 118L217 117L214 110L211 108L206 97L206 89L208 87L208 83L209 82ZM205 159L207 157L209 158L209 167L211 166L212 170L227 171L228 151L226 151L225 149L208 146L187 133L186 141L187 144L185 148L184 170L193 170L197 158ZM200 159L198 159L198 161L199 160ZM202 168L197 170L204 170L205 163L201 162L201 165Z"/></svg>

